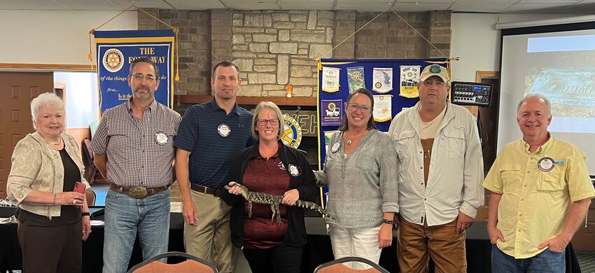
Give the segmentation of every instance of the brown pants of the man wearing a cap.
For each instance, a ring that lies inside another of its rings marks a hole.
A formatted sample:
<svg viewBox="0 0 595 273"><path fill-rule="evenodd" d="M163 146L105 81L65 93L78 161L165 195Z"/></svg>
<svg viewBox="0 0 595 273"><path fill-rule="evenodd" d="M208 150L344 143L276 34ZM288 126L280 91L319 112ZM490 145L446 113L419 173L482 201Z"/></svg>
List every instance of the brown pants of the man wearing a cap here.
<svg viewBox="0 0 595 273"><path fill-rule="evenodd" d="M397 258L400 272L428 272L429 257L435 272L467 272L465 232L456 234L456 220L444 225L428 227L399 218ZM429 254L429 255L428 255Z"/></svg>

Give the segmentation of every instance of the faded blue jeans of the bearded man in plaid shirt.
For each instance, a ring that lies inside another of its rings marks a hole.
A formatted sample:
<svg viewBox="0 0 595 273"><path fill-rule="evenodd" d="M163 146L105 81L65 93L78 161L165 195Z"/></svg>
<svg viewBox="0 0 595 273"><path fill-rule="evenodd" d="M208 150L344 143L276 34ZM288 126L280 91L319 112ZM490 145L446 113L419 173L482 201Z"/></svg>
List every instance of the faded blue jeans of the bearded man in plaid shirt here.
<svg viewBox="0 0 595 273"><path fill-rule="evenodd" d="M103 272L127 272L137 234L144 260L167 252L169 207L169 190L143 199L109 190L105 208Z"/></svg>

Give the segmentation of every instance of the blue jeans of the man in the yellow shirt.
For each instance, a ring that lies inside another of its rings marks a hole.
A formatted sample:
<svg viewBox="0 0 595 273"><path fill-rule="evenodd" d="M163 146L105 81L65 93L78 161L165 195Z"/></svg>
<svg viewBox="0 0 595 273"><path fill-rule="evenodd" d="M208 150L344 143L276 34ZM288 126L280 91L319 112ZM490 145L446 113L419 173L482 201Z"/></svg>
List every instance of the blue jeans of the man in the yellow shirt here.
<svg viewBox="0 0 595 273"><path fill-rule="evenodd" d="M491 272L507 273L560 273L566 272L564 252L549 250L525 259L515 259L502 252L498 246L491 246Z"/></svg>

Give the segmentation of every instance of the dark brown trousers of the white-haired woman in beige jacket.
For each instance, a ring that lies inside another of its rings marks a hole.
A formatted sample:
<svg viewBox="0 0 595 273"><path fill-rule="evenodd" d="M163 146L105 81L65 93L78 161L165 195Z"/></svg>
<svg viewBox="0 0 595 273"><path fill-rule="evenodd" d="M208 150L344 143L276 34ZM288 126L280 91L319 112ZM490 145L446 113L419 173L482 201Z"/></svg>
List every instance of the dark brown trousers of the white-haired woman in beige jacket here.
<svg viewBox="0 0 595 273"><path fill-rule="evenodd" d="M83 267L81 221L57 226L19 223L23 273L80 273Z"/></svg>

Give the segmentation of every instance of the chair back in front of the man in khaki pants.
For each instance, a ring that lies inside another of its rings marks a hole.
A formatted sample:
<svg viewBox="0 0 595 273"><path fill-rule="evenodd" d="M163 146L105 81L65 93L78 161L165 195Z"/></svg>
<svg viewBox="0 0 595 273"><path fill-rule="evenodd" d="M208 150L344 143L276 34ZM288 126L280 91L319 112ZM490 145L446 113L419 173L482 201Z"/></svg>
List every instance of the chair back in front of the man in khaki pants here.
<svg viewBox="0 0 595 273"><path fill-rule="evenodd" d="M167 257L183 257L187 260L183 262L179 262L176 264L166 264L160 262L158 260ZM194 255L190 255L188 253L178 252L178 251L169 251L167 253L163 253L160 255L156 255L153 258L148 258L148 260L139 263L138 265L134 265L128 273L150 273L150 272L160 272L160 273L218 273L217 268L215 265L211 264L211 262L207 262L206 260L202 260Z"/></svg>

